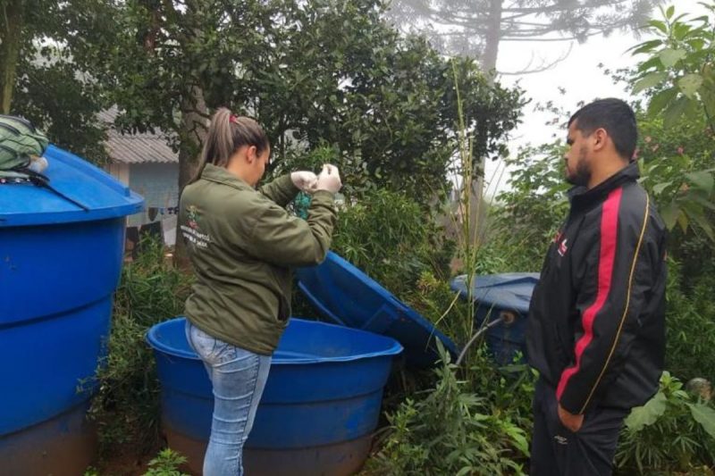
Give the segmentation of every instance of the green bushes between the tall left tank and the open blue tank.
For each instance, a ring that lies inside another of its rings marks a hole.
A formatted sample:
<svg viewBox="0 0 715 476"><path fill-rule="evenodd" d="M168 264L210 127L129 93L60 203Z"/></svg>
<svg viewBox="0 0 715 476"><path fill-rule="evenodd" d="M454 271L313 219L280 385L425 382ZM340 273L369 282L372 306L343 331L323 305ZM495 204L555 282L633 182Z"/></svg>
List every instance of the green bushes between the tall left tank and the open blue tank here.
<svg viewBox="0 0 715 476"><path fill-rule="evenodd" d="M140 246L137 259L123 267L109 353L97 369L99 391L90 415L98 422L104 455L118 447L143 453L156 446L159 384L145 335L155 323L180 315L189 292L188 277L172 267L161 244L147 238Z"/></svg>

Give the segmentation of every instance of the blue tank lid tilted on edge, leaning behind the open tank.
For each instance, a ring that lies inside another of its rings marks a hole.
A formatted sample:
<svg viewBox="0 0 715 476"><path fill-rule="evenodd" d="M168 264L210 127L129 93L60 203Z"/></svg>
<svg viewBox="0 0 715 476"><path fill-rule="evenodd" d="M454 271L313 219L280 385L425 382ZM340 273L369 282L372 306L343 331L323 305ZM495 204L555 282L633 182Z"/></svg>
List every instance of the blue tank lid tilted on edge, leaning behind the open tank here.
<svg viewBox="0 0 715 476"><path fill-rule="evenodd" d="M436 362L436 339L457 355L454 343L431 322L332 251L324 263L296 272L299 289L324 317L394 338L404 347L408 364L426 367Z"/></svg>

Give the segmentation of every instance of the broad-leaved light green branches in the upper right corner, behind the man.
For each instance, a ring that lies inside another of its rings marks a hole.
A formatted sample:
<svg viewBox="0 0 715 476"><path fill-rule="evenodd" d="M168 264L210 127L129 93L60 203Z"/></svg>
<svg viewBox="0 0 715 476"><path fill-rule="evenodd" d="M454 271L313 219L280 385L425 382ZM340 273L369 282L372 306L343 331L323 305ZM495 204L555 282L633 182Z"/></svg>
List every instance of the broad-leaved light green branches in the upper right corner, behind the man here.
<svg viewBox="0 0 715 476"><path fill-rule="evenodd" d="M633 48L649 58L638 64L631 82L634 93L649 96L644 122L655 129L640 149L645 187L669 229L692 228L715 241L715 4L702 5L708 14L695 19L676 16L674 7L661 9L663 20L649 23L657 38Z"/></svg>

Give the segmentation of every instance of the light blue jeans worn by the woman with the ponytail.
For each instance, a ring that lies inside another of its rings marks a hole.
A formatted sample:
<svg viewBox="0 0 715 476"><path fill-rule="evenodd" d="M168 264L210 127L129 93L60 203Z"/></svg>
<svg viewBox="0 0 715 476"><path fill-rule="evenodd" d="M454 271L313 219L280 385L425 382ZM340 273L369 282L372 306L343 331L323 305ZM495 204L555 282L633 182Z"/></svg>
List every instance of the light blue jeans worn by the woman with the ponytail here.
<svg viewBox="0 0 715 476"><path fill-rule="evenodd" d="M189 321L186 338L204 362L214 387L214 416L204 456L204 476L242 476L243 444L256 418L271 357L231 346Z"/></svg>

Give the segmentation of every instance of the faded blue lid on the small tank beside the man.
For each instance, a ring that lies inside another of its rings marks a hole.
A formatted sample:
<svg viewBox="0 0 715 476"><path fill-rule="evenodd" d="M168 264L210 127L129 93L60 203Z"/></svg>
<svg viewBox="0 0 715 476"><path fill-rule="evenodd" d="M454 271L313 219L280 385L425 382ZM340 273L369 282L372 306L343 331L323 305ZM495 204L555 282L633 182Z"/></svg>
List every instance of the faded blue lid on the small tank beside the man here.
<svg viewBox="0 0 715 476"><path fill-rule="evenodd" d="M526 314L529 311L534 286L539 281L538 272L505 272L475 276L472 282L472 298L480 305ZM467 275L451 281L450 287L459 296L467 299Z"/></svg>

